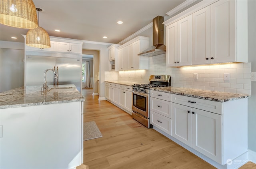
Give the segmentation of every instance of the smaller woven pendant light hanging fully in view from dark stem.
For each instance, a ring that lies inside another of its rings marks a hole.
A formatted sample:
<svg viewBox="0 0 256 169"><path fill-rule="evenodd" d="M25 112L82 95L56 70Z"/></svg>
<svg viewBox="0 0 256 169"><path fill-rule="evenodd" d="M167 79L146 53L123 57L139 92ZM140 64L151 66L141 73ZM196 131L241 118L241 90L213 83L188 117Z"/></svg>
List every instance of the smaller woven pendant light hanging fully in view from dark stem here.
<svg viewBox="0 0 256 169"><path fill-rule="evenodd" d="M38 11L38 25L39 25L39 11L42 11L40 8L36 8ZM26 45L35 47L35 48L50 48L50 37L44 28L38 26L35 29L28 30L26 35Z"/></svg>

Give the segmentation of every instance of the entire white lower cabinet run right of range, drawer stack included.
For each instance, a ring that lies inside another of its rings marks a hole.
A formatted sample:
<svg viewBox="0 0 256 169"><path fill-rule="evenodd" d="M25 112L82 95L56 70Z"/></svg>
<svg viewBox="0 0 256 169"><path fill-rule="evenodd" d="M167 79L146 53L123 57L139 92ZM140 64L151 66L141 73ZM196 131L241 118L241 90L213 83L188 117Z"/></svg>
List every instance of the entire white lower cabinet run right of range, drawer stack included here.
<svg viewBox="0 0 256 169"><path fill-rule="evenodd" d="M248 99L218 102L150 91L150 123L215 167L239 168L226 163L247 159L247 105Z"/></svg>

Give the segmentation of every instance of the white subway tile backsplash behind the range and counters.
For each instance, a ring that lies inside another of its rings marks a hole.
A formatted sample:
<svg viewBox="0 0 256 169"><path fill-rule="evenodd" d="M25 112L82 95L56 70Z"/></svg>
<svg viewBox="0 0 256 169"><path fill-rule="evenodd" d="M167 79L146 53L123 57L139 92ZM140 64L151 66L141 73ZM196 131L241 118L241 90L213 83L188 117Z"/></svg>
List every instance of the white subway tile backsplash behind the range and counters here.
<svg viewBox="0 0 256 169"><path fill-rule="evenodd" d="M167 74L171 76L171 85L174 87L250 94L250 63L171 68L166 67L166 56L160 55L150 57L149 68L118 72L118 80L148 83L148 78L152 74ZM194 73L198 74L197 80L194 80ZM229 81L224 81L224 73L230 74ZM106 76L109 80L116 77L112 73L105 73Z"/></svg>

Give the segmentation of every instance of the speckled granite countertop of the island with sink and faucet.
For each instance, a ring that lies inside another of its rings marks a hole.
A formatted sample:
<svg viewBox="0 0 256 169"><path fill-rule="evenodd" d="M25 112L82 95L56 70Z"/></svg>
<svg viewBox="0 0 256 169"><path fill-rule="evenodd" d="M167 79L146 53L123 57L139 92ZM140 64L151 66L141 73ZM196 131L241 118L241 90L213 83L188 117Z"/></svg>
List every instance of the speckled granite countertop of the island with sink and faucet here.
<svg viewBox="0 0 256 169"><path fill-rule="evenodd" d="M75 85L58 85L57 87L70 86L75 87ZM77 89L41 92L41 87L41 85L19 87L0 93L0 109L84 101L83 95ZM48 85L48 89L51 87L53 86Z"/></svg>

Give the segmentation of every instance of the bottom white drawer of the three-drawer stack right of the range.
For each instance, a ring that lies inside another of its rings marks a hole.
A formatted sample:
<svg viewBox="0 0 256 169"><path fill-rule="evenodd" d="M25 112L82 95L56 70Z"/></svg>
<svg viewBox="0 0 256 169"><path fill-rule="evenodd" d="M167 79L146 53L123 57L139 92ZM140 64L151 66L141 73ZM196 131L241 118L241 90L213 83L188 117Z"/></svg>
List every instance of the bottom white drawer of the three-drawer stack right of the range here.
<svg viewBox="0 0 256 169"><path fill-rule="evenodd" d="M172 135L172 119L150 111L150 123L165 133Z"/></svg>

